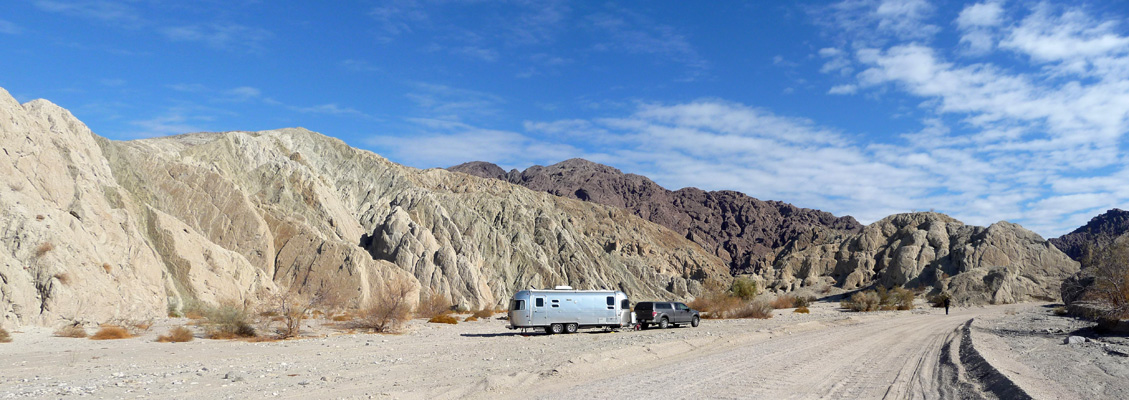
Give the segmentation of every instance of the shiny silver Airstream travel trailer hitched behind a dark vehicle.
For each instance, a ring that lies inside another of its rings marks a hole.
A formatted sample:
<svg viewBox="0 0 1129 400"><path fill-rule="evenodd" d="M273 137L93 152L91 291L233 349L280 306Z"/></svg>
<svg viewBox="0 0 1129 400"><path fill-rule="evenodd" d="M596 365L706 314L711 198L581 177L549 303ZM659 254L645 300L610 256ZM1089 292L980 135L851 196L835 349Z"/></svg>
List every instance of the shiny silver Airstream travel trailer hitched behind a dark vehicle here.
<svg viewBox="0 0 1129 400"><path fill-rule="evenodd" d="M580 328L631 325L631 302L619 290L522 290L509 301L509 329L541 328L546 333L572 333Z"/></svg>

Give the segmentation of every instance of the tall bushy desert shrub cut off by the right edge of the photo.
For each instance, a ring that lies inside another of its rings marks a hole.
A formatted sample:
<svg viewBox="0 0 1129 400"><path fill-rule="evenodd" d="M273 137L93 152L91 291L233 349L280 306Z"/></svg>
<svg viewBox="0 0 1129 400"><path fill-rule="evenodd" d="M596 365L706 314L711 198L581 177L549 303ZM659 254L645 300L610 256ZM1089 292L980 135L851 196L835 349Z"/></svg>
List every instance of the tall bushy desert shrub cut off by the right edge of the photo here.
<svg viewBox="0 0 1129 400"><path fill-rule="evenodd" d="M1093 277L1084 288L1082 302L1097 308L1104 318L1129 318L1129 241L1119 238L1104 246L1083 251L1082 270Z"/></svg>

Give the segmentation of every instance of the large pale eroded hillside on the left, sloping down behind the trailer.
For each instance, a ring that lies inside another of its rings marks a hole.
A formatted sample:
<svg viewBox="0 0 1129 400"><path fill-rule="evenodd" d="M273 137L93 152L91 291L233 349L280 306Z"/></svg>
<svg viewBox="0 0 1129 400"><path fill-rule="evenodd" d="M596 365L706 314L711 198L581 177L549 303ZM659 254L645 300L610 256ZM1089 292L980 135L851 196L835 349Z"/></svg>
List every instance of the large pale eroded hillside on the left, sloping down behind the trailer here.
<svg viewBox="0 0 1129 400"><path fill-rule="evenodd" d="M728 268L619 208L419 171L304 129L100 138L0 89L0 321L161 316L191 302L402 280L466 308L518 289L688 298Z"/></svg>

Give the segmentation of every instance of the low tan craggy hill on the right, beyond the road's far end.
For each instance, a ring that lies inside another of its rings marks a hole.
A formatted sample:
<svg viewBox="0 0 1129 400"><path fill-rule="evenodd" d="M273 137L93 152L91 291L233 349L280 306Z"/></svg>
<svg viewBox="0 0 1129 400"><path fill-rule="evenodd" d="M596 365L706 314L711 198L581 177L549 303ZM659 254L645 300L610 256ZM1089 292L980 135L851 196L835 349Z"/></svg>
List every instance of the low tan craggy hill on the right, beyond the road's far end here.
<svg viewBox="0 0 1129 400"><path fill-rule="evenodd" d="M1078 263L1038 234L1000 221L964 225L936 212L900 214L867 225L846 240L812 246L779 260L764 277L785 290L874 284L935 288L957 304L1004 304L1059 297Z"/></svg>

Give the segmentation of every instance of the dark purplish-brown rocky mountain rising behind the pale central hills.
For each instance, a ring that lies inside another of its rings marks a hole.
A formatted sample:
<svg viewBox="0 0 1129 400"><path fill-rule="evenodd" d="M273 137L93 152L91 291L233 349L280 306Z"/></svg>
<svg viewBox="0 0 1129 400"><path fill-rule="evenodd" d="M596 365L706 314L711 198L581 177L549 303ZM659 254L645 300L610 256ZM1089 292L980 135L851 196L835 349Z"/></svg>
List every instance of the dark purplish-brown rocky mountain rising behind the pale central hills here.
<svg viewBox="0 0 1129 400"><path fill-rule="evenodd" d="M669 191L646 176L579 158L524 172L507 173L483 162L448 169L627 209L698 243L725 260L734 273L767 273L785 249L829 243L861 228L849 216L762 201L734 191Z"/></svg>

